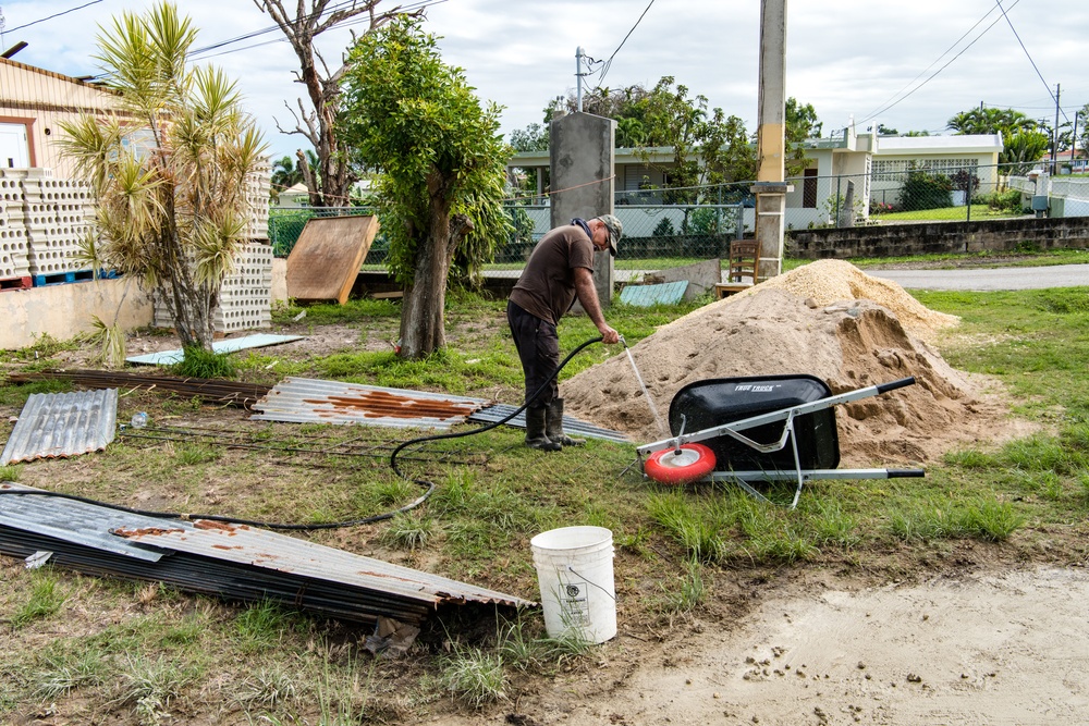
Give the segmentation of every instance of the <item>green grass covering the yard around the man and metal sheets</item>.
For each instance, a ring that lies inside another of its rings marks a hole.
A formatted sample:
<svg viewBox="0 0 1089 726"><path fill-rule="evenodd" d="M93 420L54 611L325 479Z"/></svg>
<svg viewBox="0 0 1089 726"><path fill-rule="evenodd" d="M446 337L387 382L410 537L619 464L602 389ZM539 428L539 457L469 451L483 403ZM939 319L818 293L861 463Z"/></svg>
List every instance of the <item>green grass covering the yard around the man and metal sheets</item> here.
<svg viewBox="0 0 1089 726"><path fill-rule="evenodd" d="M406 456L401 463L411 476L437 483L416 509L375 526L298 536L536 600L529 539L598 524L613 531L624 627L666 639L671 624L690 613L735 615L738 605L727 595L736 581L758 591L772 576L821 569L888 581L955 568L962 557L975 562L976 551L982 562L1084 561L1089 287L917 296L963 319L937 342L942 355L957 368L993 376L1038 431L1001 446L949 452L926 465L922 479L811 482L791 510L734 487L653 484L631 466L632 445L591 440L546 454L525 448L522 432L504 427L427 444L421 453L433 456ZM306 308L304 320L360 329L395 323L395 304L363 303ZM634 344L698 304L614 305L608 316ZM502 316L502 302L457 293L448 310L461 331L457 343L433 358L407 366L382 353L342 354L292 365L315 377L498 391L516 402L521 368ZM597 335L585 318L564 320L560 330L565 352ZM564 377L622 354L619 346L592 345ZM243 368L256 371L274 360L252 358ZM56 360L35 365L56 367ZM48 390L68 387L0 385L2 413L16 416L29 392ZM274 451L122 436L78 459L0 468L0 480L276 521L366 517L421 492L388 465L390 444L420 432L255 422L241 411L143 392L129 394L122 408L148 410L157 423L215 416ZM348 443L376 453L328 453ZM286 451L303 445L326 453ZM776 502L792 494L788 485L762 491ZM443 613L449 632L421 633L406 659L393 661L362 650L369 625L313 618L274 603L224 603L53 568L25 570L17 561L8 563L4 586L0 618L11 635L0 652L0 722L34 713L47 700L66 709L59 717L71 723L166 723L167 712L208 721L224 717L220 707L240 723L270 724L414 723L450 711L464 715L466 707L501 717L519 698L592 670L598 653L608 652L547 638L537 613L509 624L489 610L480 619ZM639 648L634 639L616 642L607 648Z"/></svg>

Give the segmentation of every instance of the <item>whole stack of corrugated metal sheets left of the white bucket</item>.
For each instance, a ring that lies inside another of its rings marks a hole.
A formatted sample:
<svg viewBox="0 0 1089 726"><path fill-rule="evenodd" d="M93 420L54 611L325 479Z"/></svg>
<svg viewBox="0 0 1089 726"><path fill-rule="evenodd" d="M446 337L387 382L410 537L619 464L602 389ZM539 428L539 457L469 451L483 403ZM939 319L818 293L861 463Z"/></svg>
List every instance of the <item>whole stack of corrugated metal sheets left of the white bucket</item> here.
<svg viewBox="0 0 1089 726"><path fill-rule="evenodd" d="M0 484L0 490L28 488ZM30 490L35 491L35 490ZM40 491L40 490L38 490ZM419 623L446 604L533 603L285 534L96 504L0 493L0 552L90 575L166 582L229 600L273 600L348 620Z"/></svg>

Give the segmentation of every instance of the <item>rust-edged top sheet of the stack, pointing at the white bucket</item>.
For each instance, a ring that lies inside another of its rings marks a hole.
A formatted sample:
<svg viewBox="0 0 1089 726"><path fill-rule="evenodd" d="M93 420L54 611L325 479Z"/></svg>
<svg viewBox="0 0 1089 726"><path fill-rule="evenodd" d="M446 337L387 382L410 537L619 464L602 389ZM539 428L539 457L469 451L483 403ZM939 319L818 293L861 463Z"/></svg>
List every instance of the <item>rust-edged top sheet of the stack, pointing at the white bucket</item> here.
<svg viewBox="0 0 1089 726"><path fill-rule="evenodd" d="M118 529L114 533L164 550L374 590L432 607L448 602L533 604L494 590L246 525L197 519L193 529Z"/></svg>

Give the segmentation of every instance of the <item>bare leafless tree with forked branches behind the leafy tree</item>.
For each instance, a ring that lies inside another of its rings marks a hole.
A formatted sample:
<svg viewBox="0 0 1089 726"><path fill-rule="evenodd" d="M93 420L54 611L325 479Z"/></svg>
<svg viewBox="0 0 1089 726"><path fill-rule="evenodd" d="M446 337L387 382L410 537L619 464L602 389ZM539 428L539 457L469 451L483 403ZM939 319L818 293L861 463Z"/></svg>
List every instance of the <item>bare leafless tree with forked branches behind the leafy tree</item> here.
<svg viewBox="0 0 1089 726"><path fill-rule="evenodd" d="M292 14L284 9L284 0L254 0L257 8L268 13L280 27L295 51L299 63L295 81L306 87L310 100L311 108L308 110L299 99L297 113L287 106L287 110L295 116L293 130L285 131L279 124L277 127L283 134L301 134L317 150L318 163L313 171L303 150L295 152L302 181L306 182L306 188L310 193L311 207L345 206L352 185L358 181L351 153L338 137L335 126L345 66L340 64L335 70L330 70L314 41L326 30L343 25L358 15L367 16L366 33L370 33L402 14L400 7L379 12L380 1L310 0L310 8L307 10L305 0L297 0ZM423 10L417 10L412 14L418 15Z"/></svg>

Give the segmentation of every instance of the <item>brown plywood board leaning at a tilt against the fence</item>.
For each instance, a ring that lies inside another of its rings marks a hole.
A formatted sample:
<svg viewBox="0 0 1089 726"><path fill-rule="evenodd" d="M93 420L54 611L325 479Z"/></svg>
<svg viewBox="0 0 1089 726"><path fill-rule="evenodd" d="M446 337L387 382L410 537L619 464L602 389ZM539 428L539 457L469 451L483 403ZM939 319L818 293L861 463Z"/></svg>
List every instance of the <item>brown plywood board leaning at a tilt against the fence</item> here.
<svg viewBox="0 0 1089 726"><path fill-rule="evenodd" d="M377 217L307 220L287 256L287 297L344 305L376 234Z"/></svg>

